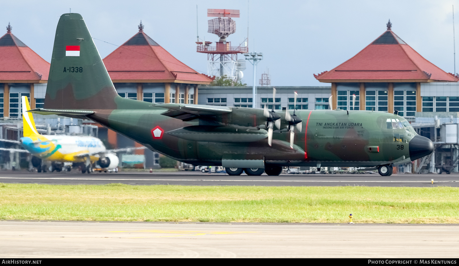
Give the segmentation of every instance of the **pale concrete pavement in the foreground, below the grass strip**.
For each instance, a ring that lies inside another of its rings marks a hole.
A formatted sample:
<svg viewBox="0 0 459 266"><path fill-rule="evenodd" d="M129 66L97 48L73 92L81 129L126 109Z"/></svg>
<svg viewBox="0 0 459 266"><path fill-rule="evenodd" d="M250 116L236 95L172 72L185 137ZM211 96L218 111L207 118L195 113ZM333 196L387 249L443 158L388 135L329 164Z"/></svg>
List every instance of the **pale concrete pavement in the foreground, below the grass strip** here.
<svg viewBox="0 0 459 266"><path fill-rule="evenodd" d="M2 258L454 258L458 225L0 221Z"/></svg>

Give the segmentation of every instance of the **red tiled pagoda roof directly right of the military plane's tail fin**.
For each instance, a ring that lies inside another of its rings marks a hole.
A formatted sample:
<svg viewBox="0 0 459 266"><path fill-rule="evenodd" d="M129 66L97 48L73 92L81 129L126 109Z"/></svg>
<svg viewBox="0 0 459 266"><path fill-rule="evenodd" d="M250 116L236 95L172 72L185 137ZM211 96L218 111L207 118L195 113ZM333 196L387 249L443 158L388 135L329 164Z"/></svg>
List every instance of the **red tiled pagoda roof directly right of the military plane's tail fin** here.
<svg viewBox="0 0 459 266"><path fill-rule="evenodd" d="M142 30L103 61L113 82L212 82L212 79L177 60Z"/></svg>

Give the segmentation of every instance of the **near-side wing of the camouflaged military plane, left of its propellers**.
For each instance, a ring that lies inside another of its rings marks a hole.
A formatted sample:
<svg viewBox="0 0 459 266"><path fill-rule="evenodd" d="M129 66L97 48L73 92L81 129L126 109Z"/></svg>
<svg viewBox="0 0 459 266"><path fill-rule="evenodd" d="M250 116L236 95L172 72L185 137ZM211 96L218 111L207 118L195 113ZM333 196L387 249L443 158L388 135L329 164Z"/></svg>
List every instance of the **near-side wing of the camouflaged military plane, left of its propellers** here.
<svg viewBox="0 0 459 266"><path fill-rule="evenodd" d="M174 117L183 121L193 120L197 116L218 116L233 111L226 106L214 105L160 104L153 106L168 109L162 113L163 116Z"/></svg>

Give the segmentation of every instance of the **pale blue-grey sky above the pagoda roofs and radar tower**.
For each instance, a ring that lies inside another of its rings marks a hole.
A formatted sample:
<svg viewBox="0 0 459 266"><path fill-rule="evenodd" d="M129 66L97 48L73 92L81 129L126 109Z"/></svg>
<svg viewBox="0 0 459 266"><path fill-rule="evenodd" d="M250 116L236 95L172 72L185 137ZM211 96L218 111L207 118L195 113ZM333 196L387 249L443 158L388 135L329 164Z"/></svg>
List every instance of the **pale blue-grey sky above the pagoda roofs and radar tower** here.
<svg viewBox="0 0 459 266"><path fill-rule="evenodd" d="M0 36L11 22L12 33L48 62L59 17L71 8L99 39L94 42L102 58L137 33L141 20L151 39L201 73L207 72L207 55L196 52L196 26L200 39L218 41L207 33L207 20L213 18L207 17L207 9L239 9L236 32L227 40L242 43L248 22L249 51L263 53L257 82L269 69L273 86L330 86L313 74L364 49L386 31L389 19L405 43L442 70L454 72L453 6L459 32L459 0L22 0L1 5L0 27L5 28ZM252 65L246 65L242 81L252 86Z"/></svg>

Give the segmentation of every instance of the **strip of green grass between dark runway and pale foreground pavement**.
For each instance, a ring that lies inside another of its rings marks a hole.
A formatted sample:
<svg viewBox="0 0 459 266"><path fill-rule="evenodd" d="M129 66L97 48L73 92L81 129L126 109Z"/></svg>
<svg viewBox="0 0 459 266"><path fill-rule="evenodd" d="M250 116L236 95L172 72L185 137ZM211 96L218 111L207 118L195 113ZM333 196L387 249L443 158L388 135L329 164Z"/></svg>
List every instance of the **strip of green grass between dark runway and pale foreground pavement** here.
<svg viewBox="0 0 459 266"><path fill-rule="evenodd" d="M0 219L459 223L459 188L1 184Z"/></svg>

